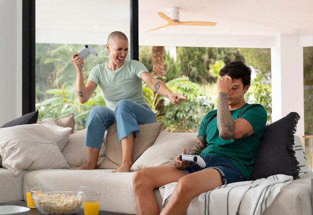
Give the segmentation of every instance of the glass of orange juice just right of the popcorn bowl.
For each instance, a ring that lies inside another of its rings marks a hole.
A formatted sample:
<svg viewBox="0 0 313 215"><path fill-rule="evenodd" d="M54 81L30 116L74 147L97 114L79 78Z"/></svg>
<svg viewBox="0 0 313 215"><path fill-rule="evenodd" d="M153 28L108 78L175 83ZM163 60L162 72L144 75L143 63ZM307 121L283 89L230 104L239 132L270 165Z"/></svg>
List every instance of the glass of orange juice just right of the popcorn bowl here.
<svg viewBox="0 0 313 215"><path fill-rule="evenodd" d="M83 199L83 214L98 215L99 214L99 197L100 192L84 192Z"/></svg>

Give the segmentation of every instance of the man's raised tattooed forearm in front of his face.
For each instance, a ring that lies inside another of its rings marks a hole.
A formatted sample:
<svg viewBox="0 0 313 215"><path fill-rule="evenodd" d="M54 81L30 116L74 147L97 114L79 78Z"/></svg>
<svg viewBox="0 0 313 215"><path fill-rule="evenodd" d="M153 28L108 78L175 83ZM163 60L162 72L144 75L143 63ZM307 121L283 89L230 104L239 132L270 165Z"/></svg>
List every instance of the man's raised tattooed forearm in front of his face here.
<svg viewBox="0 0 313 215"><path fill-rule="evenodd" d="M218 93L217 128L219 131L219 136L221 138L223 139L235 138L235 122L230 114L228 107L228 98L225 92Z"/></svg>

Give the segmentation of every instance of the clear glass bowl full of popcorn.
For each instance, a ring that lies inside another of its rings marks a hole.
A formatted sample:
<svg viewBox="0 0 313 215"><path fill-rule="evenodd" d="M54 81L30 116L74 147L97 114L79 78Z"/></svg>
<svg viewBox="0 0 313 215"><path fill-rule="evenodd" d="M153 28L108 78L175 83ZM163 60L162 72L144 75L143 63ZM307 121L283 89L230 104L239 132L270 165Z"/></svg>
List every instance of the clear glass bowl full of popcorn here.
<svg viewBox="0 0 313 215"><path fill-rule="evenodd" d="M30 190L37 209L44 215L68 215L76 212L82 202L84 186L53 185Z"/></svg>

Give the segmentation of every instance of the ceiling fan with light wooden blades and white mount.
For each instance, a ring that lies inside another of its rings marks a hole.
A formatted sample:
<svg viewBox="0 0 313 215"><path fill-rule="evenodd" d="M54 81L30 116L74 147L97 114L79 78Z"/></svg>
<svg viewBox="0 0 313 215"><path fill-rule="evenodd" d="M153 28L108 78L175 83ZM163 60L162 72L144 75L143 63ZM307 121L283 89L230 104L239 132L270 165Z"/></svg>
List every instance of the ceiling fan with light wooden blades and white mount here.
<svg viewBox="0 0 313 215"><path fill-rule="evenodd" d="M159 27L155 27L150 30L146 30L144 32L157 30L166 26L174 26L174 25L207 25L207 26L215 26L216 22L209 21L179 21L179 8L175 6L171 6L167 9L167 15L162 12L157 12L157 14L167 21L166 24L161 25Z"/></svg>

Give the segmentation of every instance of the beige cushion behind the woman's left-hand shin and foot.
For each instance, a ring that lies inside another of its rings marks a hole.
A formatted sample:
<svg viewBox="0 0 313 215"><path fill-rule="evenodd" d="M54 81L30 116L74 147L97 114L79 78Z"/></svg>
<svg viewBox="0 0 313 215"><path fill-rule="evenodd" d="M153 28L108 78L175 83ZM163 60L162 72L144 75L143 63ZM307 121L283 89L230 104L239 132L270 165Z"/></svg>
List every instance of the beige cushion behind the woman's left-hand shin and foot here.
<svg viewBox="0 0 313 215"><path fill-rule="evenodd" d="M85 135L86 129L79 130L74 132L73 134L70 134L68 141L62 150L62 154L66 162L68 163L69 167L78 167L87 163L88 148L84 147ZM99 152L97 166L100 165L103 159L104 159L104 144L102 144L102 147Z"/></svg>

